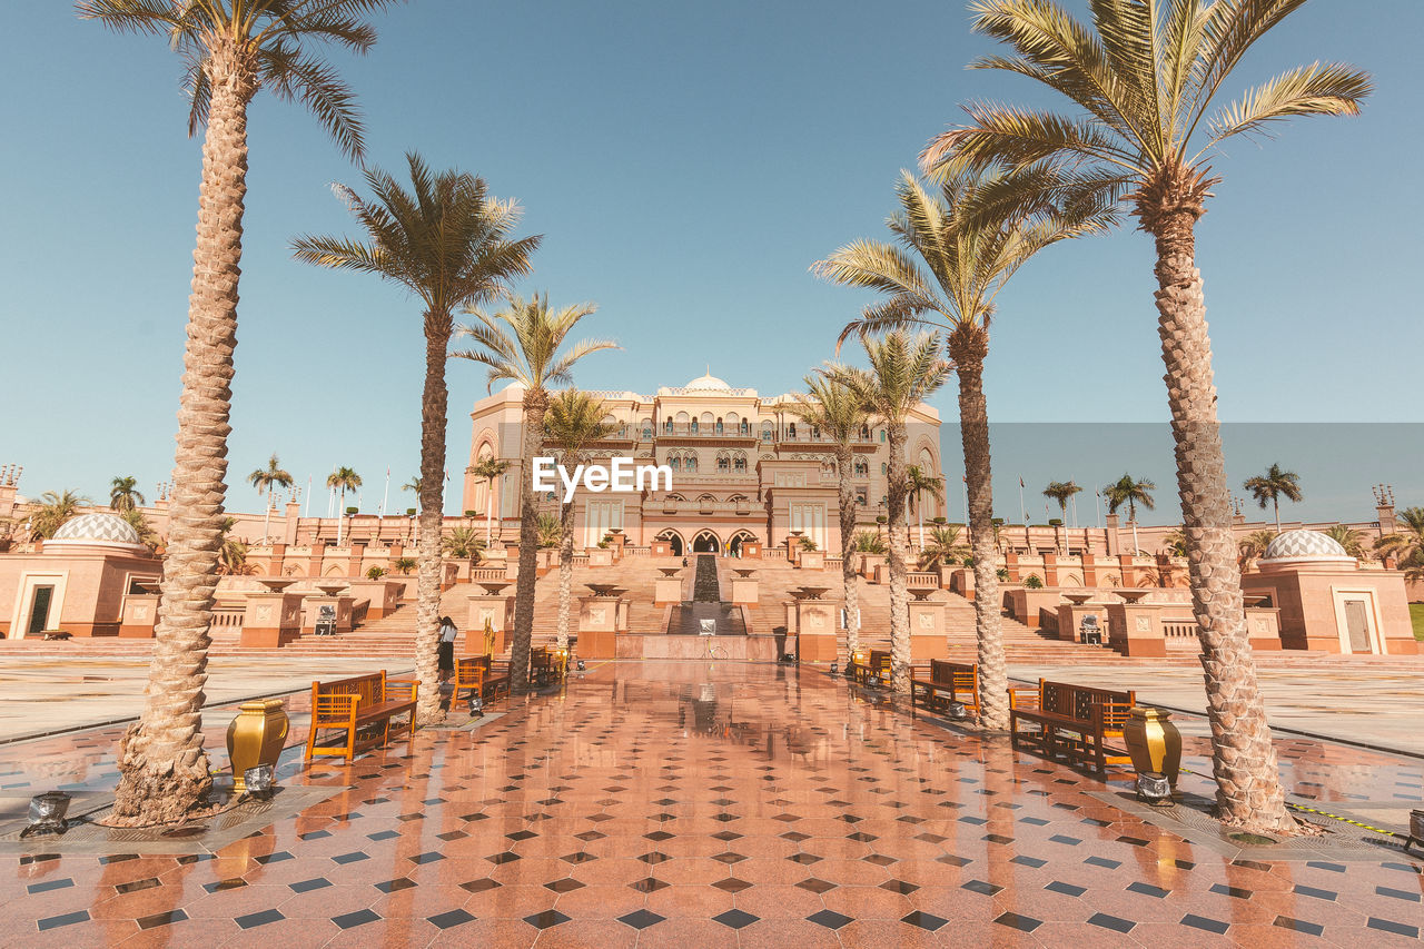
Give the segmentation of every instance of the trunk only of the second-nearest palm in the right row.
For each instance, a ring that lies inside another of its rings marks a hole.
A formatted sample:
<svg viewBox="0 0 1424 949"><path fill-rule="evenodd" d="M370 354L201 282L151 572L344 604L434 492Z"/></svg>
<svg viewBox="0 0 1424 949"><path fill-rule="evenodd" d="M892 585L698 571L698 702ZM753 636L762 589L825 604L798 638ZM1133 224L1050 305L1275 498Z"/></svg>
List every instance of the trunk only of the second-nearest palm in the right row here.
<svg viewBox="0 0 1424 949"><path fill-rule="evenodd" d="M998 601L998 544L994 540L994 483L990 472L988 402L984 356L988 335L965 328L950 336L950 356L960 376L960 433L968 486L970 543L974 551L974 633L978 641L980 725L1008 728L1008 663Z"/></svg>

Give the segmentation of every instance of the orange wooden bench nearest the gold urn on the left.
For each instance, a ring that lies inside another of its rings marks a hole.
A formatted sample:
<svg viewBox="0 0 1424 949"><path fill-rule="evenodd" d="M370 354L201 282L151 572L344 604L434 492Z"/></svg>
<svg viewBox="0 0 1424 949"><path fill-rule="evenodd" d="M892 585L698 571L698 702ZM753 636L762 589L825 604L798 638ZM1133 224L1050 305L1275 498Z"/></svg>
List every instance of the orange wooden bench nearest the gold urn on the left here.
<svg viewBox="0 0 1424 949"><path fill-rule="evenodd" d="M306 757L342 755L346 764L359 751L390 741L390 720L406 715L406 738L416 734L416 691L412 680L387 680L386 670L329 683L312 683L312 730ZM316 744L319 731L339 731L342 744Z"/></svg>

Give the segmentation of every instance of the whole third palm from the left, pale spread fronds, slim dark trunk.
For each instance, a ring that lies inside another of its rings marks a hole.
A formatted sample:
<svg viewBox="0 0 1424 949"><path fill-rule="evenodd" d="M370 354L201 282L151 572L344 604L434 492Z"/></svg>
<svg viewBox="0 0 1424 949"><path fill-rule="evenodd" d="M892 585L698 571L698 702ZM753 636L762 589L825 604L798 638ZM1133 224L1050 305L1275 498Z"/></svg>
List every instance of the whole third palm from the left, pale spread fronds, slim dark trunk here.
<svg viewBox="0 0 1424 949"><path fill-rule="evenodd" d="M504 309L486 313L477 308L468 312L474 323L457 328L461 336L474 341L476 349L450 353L488 368L487 390L494 383L510 380L524 390L524 445L520 453L520 569L514 587L514 640L510 647L510 688L528 691L530 641L534 636L534 567L538 556L538 499L534 496L534 457L544 447L544 415L548 410L548 388L570 383L574 363L600 349L618 349L605 339L584 339L570 345L568 335L584 316L597 306L578 304L560 311L550 309L548 296L535 294L524 301L510 296Z"/></svg>

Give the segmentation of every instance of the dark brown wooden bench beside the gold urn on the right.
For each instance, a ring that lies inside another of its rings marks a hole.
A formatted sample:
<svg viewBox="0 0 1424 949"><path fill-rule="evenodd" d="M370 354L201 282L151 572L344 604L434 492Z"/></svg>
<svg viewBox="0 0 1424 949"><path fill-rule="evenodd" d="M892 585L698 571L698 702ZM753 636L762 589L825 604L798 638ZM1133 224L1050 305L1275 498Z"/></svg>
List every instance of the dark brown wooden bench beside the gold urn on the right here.
<svg viewBox="0 0 1424 949"><path fill-rule="evenodd" d="M1109 740L1122 740L1136 704L1136 693L1091 688L1068 683L1038 680L1038 688L1018 685L1008 690L1008 728L1014 747L1037 748L1045 758L1059 754L1072 764L1091 764L1099 774L1109 764L1129 761L1125 751L1108 748ZM1027 730L1020 730L1020 722Z"/></svg>

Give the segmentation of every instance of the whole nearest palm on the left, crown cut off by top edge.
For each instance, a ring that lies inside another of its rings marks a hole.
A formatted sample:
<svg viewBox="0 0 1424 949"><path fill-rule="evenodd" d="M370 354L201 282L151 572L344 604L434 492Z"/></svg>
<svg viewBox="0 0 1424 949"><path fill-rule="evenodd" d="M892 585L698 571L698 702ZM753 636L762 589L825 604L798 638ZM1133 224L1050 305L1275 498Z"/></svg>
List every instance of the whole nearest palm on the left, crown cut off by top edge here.
<svg viewBox="0 0 1424 949"><path fill-rule="evenodd" d="M202 750L202 687L222 546L232 351L248 175L248 104L262 88L306 105L346 155L360 160L350 88L313 47L366 53L363 19L396 0L80 0L78 14L162 36L188 66L188 134L204 130L198 245L164 560L157 645L144 712L124 735L114 815L177 821L212 787Z"/></svg>

